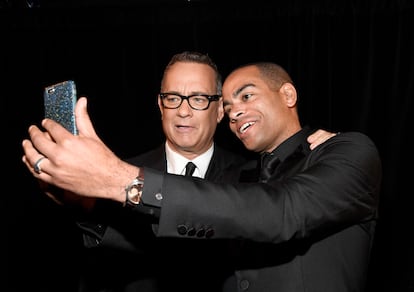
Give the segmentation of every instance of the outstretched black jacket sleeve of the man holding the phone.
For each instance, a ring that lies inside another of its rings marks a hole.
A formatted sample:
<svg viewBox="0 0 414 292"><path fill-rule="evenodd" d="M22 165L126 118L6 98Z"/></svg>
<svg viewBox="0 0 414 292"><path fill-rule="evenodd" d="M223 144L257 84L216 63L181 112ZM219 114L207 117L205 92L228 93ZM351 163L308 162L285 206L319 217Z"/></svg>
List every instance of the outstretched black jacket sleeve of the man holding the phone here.
<svg viewBox="0 0 414 292"><path fill-rule="evenodd" d="M162 197L157 236L167 237L210 230L211 238L280 243L375 218L381 163L368 137L337 135L304 159L295 173L267 184L214 184L146 169L143 202Z"/></svg>

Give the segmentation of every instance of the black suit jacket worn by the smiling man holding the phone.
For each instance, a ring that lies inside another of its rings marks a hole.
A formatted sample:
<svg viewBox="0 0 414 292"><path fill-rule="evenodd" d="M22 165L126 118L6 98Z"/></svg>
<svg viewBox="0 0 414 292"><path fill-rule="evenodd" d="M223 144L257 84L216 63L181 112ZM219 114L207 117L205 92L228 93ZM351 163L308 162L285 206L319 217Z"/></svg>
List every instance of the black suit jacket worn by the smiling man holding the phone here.
<svg viewBox="0 0 414 292"><path fill-rule="evenodd" d="M305 128L274 151L281 163L267 183L221 185L145 169L142 201L161 207L157 236L194 237L190 230L203 228L210 235L201 242L231 240L234 271L223 291L364 291L379 154L356 132L310 151L309 134Z"/></svg>

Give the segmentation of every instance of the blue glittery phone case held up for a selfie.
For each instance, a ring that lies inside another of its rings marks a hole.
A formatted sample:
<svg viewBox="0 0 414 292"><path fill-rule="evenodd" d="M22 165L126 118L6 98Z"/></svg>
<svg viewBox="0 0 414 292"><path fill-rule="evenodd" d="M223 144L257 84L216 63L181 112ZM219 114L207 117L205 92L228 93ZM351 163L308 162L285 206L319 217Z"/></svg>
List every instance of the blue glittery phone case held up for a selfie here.
<svg viewBox="0 0 414 292"><path fill-rule="evenodd" d="M74 135L78 134L75 123L76 86L72 80L45 87L45 117L55 120Z"/></svg>

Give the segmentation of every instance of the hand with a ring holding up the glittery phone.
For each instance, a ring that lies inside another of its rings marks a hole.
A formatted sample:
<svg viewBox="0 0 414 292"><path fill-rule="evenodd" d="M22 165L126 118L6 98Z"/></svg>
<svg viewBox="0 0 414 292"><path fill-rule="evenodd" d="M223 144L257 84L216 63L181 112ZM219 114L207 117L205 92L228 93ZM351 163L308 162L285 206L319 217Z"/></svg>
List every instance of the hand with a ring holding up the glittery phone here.
<svg viewBox="0 0 414 292"><path fill-rule="evenodd" d="M59 123L44 119L45 131L32 125L30 139L22 143L23 162L39 180L86 197L125 200L124 187L139 174L139 169L118 158L96 135L82 97L75 108L79 135ZM36 172L35 163L41 171Z"/></svg>

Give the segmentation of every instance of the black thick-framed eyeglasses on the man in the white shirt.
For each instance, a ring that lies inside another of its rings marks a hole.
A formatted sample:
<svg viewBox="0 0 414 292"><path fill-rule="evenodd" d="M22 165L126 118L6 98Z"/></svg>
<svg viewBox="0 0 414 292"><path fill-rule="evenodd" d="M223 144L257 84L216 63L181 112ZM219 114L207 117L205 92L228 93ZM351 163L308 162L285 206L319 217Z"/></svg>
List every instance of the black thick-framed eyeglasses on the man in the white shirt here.
<svg viewBox="0 0 414 292"><path fill-rule="evenodd" d="M210 102L220 99L220 95L208 95L208 94L193 94L189 96L181 95L178 93L160 93L161 102L163 107L169 109L179 108L186 99L192 109L203 111L208 109Z"/></svg>

